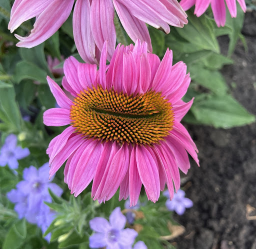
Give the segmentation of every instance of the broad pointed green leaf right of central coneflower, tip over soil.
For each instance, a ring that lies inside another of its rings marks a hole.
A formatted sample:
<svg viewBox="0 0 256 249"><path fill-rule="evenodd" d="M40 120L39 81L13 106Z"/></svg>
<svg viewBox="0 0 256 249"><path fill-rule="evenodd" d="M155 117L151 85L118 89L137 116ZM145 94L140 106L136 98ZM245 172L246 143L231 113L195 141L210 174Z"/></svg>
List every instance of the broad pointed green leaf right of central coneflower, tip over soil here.
<svg viewBox="0 0 256 249"><path fill-rule="evenodd" d="M191 111L200 123L216 128L231 128L255 121L255 116L248 113L231 95L208 96L194 102Z"/></svg>

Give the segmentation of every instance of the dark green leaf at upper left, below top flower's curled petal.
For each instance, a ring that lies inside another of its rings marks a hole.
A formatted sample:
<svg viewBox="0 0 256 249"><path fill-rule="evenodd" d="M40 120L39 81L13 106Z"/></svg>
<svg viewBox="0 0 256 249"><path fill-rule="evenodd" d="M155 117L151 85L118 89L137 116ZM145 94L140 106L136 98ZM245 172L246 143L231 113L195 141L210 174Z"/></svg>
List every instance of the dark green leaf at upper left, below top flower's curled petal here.
<svg viewBox="0 0 256 249"><path fill-rule="evenodd" d="M47 83L47 72L42 70L37 65L28 61L19 61L16 64L13 79L19 83L22 79L37 80L41 83Z"/></svg>

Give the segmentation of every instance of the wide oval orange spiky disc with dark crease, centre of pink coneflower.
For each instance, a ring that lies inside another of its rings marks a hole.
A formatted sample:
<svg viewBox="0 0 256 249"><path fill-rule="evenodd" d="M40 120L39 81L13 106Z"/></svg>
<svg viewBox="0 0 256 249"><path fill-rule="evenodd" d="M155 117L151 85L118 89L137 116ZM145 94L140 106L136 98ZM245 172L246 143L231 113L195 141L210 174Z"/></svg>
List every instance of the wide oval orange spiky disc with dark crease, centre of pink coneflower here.
<svg viewBox="0 0 256 249"><path fill-rule="evenodd" d="M169 135L174 114L161 92L127 95L98 85L74 98L70 119L76 131L86 137L152 145Z"/></svg>

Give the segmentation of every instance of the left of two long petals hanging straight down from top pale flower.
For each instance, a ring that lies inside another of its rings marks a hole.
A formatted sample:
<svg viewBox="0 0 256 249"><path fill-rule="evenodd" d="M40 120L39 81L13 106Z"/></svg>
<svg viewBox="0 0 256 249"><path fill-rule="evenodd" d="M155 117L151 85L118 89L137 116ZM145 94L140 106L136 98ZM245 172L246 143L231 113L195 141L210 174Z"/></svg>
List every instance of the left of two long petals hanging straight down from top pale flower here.
<svg viewBox="0 0 256 249"><path fill-rule="evenodd" d="M90 2L77 0L73 12L74 42L81 58L91 64L97 64L95 42L90 28Z"/></svg>

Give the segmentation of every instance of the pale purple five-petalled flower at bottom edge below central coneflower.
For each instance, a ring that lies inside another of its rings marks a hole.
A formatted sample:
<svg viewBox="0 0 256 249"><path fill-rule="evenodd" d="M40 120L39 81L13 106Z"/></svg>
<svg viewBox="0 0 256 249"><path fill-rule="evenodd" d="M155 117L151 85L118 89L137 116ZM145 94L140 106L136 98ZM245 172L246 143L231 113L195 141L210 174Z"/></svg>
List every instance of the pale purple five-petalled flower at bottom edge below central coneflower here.
<svg viewBox="0 0 256 249"><path fill-rule="evenodd" d="M134 229L124 228L125 216L121 208L116 207L109 216L109 222L102 217L95 217L89 221L90 228L95 231L89 237L91 248L106 246L106 249L130 249L138 235ZM139 247L138 247L139 248Z"/></svg>

